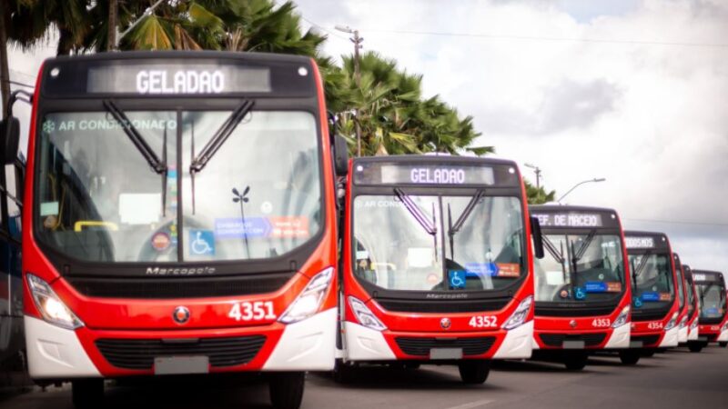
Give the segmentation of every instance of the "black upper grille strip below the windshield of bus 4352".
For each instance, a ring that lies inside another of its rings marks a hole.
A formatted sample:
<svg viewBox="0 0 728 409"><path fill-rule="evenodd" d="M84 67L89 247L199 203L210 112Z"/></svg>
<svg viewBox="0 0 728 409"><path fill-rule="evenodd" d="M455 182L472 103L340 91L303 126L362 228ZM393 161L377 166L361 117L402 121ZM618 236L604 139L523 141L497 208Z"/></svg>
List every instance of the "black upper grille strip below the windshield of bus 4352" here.
<svg viewBox="0 0 728 409"><path fill-rule="evenodd" d="M387 311L398 313L478 313L500 311L513 298L503 297L487 300L401 300L375 298L377 304Z"/></svg>

